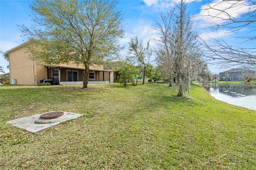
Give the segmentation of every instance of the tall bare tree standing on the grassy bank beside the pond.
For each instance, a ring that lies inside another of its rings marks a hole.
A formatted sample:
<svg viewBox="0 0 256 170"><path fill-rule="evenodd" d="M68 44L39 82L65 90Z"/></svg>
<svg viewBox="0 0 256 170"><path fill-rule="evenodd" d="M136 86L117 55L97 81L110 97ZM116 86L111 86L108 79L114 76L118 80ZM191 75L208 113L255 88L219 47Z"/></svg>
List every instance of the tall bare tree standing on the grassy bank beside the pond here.
<svg viewBox="0 0 256 170"><path fill-rule="evenodd" d="M159 31L158 63L168 70L170 77L175 77L178 83L178 97L184 97L189 92L191 78L199 74L196 70L202 65L198 40L193 20L186 12L186 1L181 0L173 12L161 13L157 22ZM171 83L170 83L171 85Z"/></svg>

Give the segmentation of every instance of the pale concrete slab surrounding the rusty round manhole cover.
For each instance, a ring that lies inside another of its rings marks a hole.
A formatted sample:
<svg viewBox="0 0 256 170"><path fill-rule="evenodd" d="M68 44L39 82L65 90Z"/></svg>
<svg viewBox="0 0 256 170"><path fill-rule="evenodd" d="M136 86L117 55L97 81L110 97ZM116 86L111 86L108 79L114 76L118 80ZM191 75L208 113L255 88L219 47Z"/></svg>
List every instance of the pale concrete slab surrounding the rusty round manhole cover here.
<svg viewBox="0 0 256 170"><path fill-rule="evenodd" d="M60 112L63 112L63 111L60 111ZM10 123L13 126L16 126L18 128L25 129L26 131L36 133L36 132L45 130L46 128L51 128L52 126L58 125L61 122L65 122L65 121L72 120L72 119L75 119L75 118L78 118L78 117L82 116L82 114L78 114L78 113L64 112L63 117L65 117L65 118L64 119L55 118L55 120L57 120L57 119L59 120L57 122L49 123L49 124L34 123L35 120L38 120L40 115L41 114L28 116L28 117L17 118L15 120L9 121L8 123Z"/></svg>

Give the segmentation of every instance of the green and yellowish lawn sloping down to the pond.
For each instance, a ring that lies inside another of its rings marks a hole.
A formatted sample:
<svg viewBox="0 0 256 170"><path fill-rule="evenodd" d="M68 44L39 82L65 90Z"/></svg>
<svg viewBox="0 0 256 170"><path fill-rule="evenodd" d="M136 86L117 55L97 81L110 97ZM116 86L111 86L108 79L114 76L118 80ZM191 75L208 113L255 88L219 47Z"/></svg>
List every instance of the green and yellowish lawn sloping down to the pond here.
<svg viewBox="0 0 256 170"><path fill-rule="evenodd" d="M199 86L0 86L0 169L254 169L256 112ZM62 110L84 116L36 134L7 123Z"/></svg>

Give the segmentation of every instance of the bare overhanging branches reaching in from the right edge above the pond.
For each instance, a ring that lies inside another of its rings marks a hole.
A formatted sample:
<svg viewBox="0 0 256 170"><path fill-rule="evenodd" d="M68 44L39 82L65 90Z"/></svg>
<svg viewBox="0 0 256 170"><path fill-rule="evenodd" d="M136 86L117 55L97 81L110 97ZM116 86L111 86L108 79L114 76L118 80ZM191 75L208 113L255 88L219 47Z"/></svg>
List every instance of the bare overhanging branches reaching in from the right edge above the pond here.
<svg viewBox="0 0 256 170"><path fill-rule="evenodd" d="M213 59L214 64L225 67L255 69L256 1L217 0L207 3L199 17L208 21L206 24L214 29L226 29L228 33L235 33L246 28L247 32L245 36L234 37L236 45L231 45L223 39L210 39L208 42L202 39L205 56Z"/></svg>

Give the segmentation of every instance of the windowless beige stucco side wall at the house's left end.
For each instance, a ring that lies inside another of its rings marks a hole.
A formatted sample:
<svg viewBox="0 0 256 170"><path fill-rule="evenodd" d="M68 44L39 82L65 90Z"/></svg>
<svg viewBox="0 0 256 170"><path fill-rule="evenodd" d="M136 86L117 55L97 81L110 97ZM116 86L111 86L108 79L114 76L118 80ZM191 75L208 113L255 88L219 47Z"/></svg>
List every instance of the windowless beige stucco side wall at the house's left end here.
<svg viewBox="0 0 256 170"><path fill-rule="evenodd" d="M33 61L29 60L25 47L9 53L10 82L17 79L17 84L33 84Z"/></svg>

